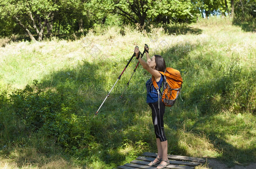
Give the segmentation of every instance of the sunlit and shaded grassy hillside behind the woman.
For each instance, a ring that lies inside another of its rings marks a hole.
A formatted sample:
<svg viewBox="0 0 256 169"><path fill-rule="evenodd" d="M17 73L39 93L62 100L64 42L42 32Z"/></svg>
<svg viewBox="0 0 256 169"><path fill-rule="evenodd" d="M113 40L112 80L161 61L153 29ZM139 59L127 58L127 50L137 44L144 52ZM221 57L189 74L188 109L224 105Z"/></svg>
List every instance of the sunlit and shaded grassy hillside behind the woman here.
<svg viewBox="0 0 256 169"><path fill-rule="evenodd" d="M93 118L135 45L160 54L183 77L165 109L168 154L256 159L256 34L228 18L139 31L100 27L78 40L12 42L0 48L0 167L112 169L156 152L151 109L137 60ZM199 166L199 168L207 168Z"/></svg>

